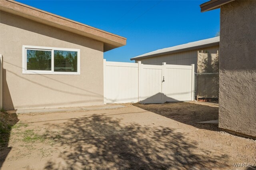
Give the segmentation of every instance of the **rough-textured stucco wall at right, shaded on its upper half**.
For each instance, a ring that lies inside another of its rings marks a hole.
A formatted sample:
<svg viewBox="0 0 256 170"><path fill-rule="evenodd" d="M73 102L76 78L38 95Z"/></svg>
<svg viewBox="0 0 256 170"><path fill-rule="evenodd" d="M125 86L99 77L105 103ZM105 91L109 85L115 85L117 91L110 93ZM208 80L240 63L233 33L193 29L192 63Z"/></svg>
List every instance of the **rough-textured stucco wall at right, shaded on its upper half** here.
<svg viewBox="0 0 256 170"><path fill-rule="evenodd" d="M256 1L220 11L219 127L256 136Z"/></svg>

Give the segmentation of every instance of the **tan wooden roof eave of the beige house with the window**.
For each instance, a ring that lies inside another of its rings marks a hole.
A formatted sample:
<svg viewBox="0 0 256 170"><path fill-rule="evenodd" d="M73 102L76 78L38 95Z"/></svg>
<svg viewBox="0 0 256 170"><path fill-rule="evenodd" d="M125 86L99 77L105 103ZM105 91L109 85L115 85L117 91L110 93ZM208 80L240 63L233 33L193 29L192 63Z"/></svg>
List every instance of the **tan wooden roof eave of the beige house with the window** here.
<svg viewBox="0 0 256 170"><path fill-rule="evenodd" d="M13 0L0 0L0 10L103 42L104 52L126 45L124 37Z"/></svg>

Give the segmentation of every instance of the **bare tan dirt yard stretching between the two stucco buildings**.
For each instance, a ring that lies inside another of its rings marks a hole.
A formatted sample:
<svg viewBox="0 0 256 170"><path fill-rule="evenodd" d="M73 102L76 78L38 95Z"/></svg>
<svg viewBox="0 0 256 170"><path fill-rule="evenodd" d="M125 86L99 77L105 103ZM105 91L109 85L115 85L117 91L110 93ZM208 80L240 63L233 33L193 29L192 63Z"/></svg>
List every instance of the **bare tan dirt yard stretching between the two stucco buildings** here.
<svg viewBox="0 0 256 170"><path fill-rule="evenodd" d="M256 140L196 123L217 119L217 105L125 106L20 114L1 144L1 168L226 170L256 163Z"/></svg>

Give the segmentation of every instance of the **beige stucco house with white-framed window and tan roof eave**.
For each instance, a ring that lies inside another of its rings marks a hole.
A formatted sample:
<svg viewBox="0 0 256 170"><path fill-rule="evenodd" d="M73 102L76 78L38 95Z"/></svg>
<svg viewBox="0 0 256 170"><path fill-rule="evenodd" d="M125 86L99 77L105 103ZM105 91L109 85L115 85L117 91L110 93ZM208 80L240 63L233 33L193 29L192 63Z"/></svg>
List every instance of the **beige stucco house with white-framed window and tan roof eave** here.
<svg viewBox="0 0 256 170"><path fill-rule="evenodd" d="M0 0L3 107L102 105L103 53L126 38L12 0Z"/></svg>

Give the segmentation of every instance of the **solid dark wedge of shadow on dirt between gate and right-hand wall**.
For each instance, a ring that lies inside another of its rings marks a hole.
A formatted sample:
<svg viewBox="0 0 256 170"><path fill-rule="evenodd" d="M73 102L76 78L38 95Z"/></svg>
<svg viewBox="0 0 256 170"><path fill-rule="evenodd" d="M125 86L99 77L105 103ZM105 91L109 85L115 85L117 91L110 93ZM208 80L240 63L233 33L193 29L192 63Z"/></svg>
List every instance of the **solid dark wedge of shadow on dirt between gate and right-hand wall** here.
<svg viewBox="0 0 256 170"><path fill-rule="evenodd" d="M206 130L220 131L216 124L202 124L198 122L213 121L218 119L218 105L175 102L164 104L140 104L134 103L136 107L162 115L186 125Z"/></svg>

